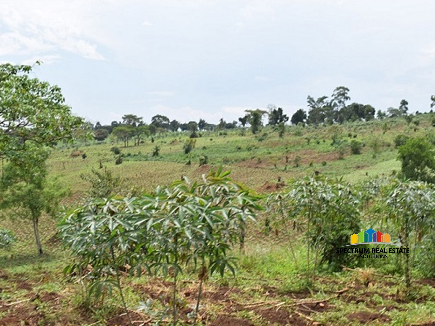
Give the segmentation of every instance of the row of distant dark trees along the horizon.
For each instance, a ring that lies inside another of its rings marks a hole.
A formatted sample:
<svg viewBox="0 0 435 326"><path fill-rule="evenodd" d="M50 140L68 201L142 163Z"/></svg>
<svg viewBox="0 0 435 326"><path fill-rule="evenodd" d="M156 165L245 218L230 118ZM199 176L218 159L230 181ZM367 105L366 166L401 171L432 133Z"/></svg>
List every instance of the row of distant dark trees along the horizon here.
<svg viewBox="0 0 435 326"><path fill-rule="evenodd" d="M267 110L245 110L245 115L238 118L238 121L227 122L224 118L219 123L208 123L204 119L181 123L177 120L170 120L167 116L157 114L151 118L151 123L144 123L143 117L134 114L125 114L122 121L112 121L110 125L95 125L87 123L88 128L93 130L95 140L105 140L107 136L113 134L118 140L128 146L130 141L138 145L145 136L152 136L162 132L190 132L191 137L197 137L197 131L204 130L224 130L237 127L250 126L252 133L257 133L263 126L264 116L268 117L268 126L274 126L280 135L284 133L284 125L290 120L291 124L303 125L324 125L342 124L353 121L370 121L375 118L381 120L385 117L403 116L407 120L412 120L412 115L408 114L408 101L401 100L398 108L388 107L386 111L378 110L370 104L350 103L349 89L345 86L338 86L331 96L321 96L315 99L307 96L308 110L299 109L291 119L284 114L281 107L269 104ZM435 105L435 95L431 96L431 108ZM432 112L432 110L431 110ZM419 114L418 111L416 114Z"/></svg>

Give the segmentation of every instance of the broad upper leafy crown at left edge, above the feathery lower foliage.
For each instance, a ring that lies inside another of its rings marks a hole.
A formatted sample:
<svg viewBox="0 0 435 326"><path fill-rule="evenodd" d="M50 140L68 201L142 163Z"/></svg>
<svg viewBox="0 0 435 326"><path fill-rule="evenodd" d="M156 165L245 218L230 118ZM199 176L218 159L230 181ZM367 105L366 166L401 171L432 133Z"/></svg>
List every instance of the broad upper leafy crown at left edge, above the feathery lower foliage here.
<svg viewBox="0 0 435 326"><path fill-rule="evenodd" d="M38 63L39 64L39 63ZM54 146L72 140L83 119L71 114L59 86L30 78L31 66L0 65L0 153L8 158L26 144Z"/></svg>

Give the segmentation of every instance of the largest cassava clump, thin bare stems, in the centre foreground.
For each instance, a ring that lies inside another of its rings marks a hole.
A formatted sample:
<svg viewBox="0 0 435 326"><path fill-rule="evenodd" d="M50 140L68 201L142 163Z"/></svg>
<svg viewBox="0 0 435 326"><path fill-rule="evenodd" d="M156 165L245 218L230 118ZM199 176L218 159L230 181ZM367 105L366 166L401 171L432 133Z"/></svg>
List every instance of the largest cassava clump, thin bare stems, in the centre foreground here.
<svg viewBox="0 0 435 326"><path fill-rule="evenodd" d="M66 213L60 233L77 257L67 273L81 275L91 266L88 297L98 298L104 289L110 294L115 286L127 313L120 269L171 276L175 325L177 278L187 265L193 266L200 281L197 315L207 274L223 276L225 269L234 274L229 252L243 243L247 220L255 221L254 211L261 209L259 197L233 182L229 173L220 168L203 176L203 183L184 179L136 198L95 199Z"/></svg>

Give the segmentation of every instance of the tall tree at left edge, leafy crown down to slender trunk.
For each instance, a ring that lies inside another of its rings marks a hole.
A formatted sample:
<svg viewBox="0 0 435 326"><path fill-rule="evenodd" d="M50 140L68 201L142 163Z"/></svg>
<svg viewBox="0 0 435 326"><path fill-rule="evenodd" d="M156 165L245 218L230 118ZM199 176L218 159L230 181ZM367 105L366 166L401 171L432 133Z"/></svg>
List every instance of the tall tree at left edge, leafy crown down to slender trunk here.
<svg viewBox="0 0 435 326"><path fill-rule="evenodd" d="M26 65L0 64L0 153L9 162L1 187L3 195L17 194L9 197L11 200L3 196L1 201L8 207L30 210L38 252L42 253L39 216L54 203L44 194L45 160L51 146L73 140L83 119L71 114L59 86L30 78L31 70Z"/></svg>

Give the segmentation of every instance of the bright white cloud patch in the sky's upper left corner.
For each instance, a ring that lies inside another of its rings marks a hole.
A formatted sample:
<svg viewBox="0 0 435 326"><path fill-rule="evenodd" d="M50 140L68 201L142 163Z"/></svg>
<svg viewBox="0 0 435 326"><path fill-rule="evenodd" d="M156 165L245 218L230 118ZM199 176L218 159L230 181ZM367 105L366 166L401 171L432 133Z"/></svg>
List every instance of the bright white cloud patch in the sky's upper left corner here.
<svg viewBox="0 0 435 326"><path fill-rule="evenodd" d="M103 60L97 45L88 40L87 23L75 4L1 3L0 55L46 54L64 50L81 57Z"/></svg>

